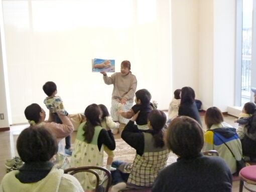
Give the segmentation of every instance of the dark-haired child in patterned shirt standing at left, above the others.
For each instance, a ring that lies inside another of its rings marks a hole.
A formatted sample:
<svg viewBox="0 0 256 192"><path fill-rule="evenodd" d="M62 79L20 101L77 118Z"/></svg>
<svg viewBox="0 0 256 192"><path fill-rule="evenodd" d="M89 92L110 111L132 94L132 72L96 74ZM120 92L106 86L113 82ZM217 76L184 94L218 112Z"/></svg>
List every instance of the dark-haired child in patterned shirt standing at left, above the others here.
<svg viewBox="0 0 256 192"><path fill-rule="evenodd" d="M43 90L45 94L48 96L44 100L44 104L46 105L47 109L53 113L54 122L62 124L58 114L56 112L60 112L63 115L68 115L68 112L64 109L62 99L60 96L56 96L57 94L57 86L54 82L48 81L44 84ZM65 153L68 155L72 154L71 150L71 137L68 135L65 137L66 146L65 146Z"/></svg>

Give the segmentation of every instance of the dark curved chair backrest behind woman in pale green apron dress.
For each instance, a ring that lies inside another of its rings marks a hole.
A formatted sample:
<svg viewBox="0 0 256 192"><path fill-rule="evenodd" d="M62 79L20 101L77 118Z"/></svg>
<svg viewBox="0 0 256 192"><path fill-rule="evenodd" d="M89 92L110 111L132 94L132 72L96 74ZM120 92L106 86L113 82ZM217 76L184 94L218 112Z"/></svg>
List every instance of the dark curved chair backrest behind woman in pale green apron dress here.
<svg viewBox="0 0 256 192"><path fill-rule="evenodd" d="M107 170L106 168L104 167L100 167L100 166L80 166L80 167L71 167L71 168L68 168L68 169L65 169L64 170L64 173L68 173L68 174L75 174L75 173L78 173L78 172L90 172L92 174L94 174L96 176L96 187L95 187L95 191L98 192L100 191L100 178L99 178L99 174L93 170L93 169L99 169L99 170L102 170L104 171L105 173L105 176L107 176L107 183L106 183L106 186L104 187L104 191L107 192L109 187L110 187L110 184L111 184L111 181L112 181L112 177L111 177L111 173L109 170ZM103 180L104 182L104 180Z"/></svg>

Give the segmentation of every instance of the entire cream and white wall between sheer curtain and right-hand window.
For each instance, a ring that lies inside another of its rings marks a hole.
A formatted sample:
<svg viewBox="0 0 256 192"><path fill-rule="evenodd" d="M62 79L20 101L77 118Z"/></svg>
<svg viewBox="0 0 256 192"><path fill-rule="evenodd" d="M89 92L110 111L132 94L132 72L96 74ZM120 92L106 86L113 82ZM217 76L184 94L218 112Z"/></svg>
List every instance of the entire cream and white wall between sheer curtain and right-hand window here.
<svg viewBox="0 0 256 192"><path fill-rule="evenodd" d="M191 86L203 109L234 102L235 1L172 1L173 89Z"/></svg>

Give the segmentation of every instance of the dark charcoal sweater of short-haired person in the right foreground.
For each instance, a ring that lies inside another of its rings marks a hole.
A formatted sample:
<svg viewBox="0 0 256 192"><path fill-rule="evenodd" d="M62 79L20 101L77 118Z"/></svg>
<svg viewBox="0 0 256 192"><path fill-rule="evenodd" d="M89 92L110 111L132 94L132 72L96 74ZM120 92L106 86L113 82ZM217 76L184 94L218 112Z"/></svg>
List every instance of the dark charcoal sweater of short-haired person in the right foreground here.
<svg viewBox="0 0 256 192"><path fill-rule="evenodd" d="M178 158L157 177L152 192L231 191L232 176L224 160L200 153L195 158Z"/></svg>

